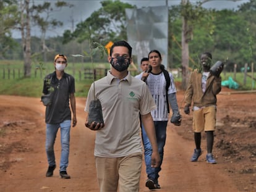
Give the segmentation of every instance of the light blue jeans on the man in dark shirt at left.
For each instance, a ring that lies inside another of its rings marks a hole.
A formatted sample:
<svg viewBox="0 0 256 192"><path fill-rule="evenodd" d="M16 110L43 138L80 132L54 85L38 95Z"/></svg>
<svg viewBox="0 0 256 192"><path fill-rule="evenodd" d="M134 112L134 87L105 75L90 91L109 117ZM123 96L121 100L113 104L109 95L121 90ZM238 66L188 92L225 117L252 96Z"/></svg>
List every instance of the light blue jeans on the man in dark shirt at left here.
<svg viewBox="0 0 256 192"><path fill-rule="evenodd" d="M54 143L57 132L61 128L61 161L59 163L59 171L66 171L69 164L69 140L70 140L71 120L64 120L58 124L46 123L46 142L45 149L49 166L56 165L54 155Z"/></svg>

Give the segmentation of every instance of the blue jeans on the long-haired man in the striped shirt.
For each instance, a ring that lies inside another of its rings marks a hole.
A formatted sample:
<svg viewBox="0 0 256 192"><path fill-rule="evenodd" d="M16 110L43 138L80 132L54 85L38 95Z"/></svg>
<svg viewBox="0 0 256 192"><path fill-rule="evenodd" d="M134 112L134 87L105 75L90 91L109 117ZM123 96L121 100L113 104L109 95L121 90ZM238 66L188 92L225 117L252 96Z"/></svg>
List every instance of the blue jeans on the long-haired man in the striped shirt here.
<svg viewBox="0 0 256 192"><path fill-rule="evenodd" d="M156 130L156 141L158 144L158 152L160 154L160 165L157 168L151 167L151 154L152 154L152 147L150 144L150 140L148 139L147 133L142 125L142 140L144 145L144 156L145 156L145 164L146 164L146 172L148 178L153 180L156 184L158 184L158 177L159 172L161 170L161 164L163 162L163 153L164 153L164 144L166 141L166 127L168 121L164 122L154 122L155 130Z"/></svg>

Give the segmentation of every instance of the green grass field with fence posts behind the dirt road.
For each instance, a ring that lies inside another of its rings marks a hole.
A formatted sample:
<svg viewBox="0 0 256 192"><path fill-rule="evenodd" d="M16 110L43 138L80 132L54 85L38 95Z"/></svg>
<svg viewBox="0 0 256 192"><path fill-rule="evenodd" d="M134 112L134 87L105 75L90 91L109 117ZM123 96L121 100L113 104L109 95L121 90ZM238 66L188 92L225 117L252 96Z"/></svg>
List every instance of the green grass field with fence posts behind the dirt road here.
<svg viewBox="0 0 256 192"><path fill-rule="evenodd" d="M100 74L96 74L96 79L105 75L105 69L109 69L108 63L93 64L95 69L100 70ZM43 88L43 78L48 73L54 71L53 63L46 63L42 65L43 70L38 69L39 64L32 64L31 77L23 78L23 62L21 61L0 61L0 94L7 95L19 95L29 97L40 97ZM69 63L65 70L70 75L75 77L75 96L86 97L90 85L93 79L85 79L83 69L92 69L90 63ZM9 71L8 71L9 70ZM98 72L98 70L97 70ZM19 74L20 73L20 74ZM136 75L139 72L132 72L132 75ZM252 76L252 73L248 73ZM221 73L221 77L224 80L228 80L229 77L234 79L233 73ZM254 75L254 78L255 75ZM181 81L181 78L175 78L175 81ZM256 90L255 81L252 78L246 78L246 84L244 84L244 73L236 73L236 80L239 84L238 90Z"/></svg>

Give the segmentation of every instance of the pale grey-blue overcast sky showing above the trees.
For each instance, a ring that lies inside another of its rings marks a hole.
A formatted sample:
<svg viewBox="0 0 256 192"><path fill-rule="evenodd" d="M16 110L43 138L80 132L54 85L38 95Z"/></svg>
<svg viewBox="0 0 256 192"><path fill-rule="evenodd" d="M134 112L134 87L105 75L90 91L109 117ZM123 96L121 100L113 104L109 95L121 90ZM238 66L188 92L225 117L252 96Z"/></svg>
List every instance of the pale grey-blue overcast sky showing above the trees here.
<svg viewBox="0 0 256 192"><path fill-rule="evenodd" d="M62 0L63 1L63 0ZM48 31L46 36L57 36L62 35L64 30L72 30L72 23L77 25L77 23L87 19L90 15L95 11L100 9L102 0L69 0L70 4L73 4L72 8L62 8L60 11L53 12L51 17L54 19L58 19L63 22L63 27L58 28L54 31ZM121 0L122 2L127 2L129 4L137 6L137 8L142 7L153 7L153 6L165 6L166 0ZM208 0L209 2L205 2L203 7L212 8L216 10L220 9L237 9L237 6L249 2L249 0ZM38 4L43 4L44 1L35 0ZM56 2L51 0L49 2ZM197 2L197 0L190 0L190 2ZM168 6L173 6L180 4L181 0L168 0ZM74 21L74 22L72 22ZM32 36L39 36L38 30L34 28L31 31ZM14 37L20 37L19 33L13 33Z"/></svg>

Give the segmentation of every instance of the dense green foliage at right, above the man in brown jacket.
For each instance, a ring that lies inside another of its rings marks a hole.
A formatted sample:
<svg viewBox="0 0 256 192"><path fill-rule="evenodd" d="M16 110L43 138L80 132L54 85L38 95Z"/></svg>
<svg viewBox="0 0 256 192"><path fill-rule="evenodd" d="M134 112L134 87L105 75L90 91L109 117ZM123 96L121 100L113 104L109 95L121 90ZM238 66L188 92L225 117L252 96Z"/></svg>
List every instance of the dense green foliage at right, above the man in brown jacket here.
<svg viewBox="0 0 256 192"><path fill-rule="evenodd" d="M195 6L196 7L196 6ZM227 69L233 70L233 65L241 69L245 63L254 62L256 44L255 1L242 4L238 10L207 9L205 16L199 22L190 22L192 34L189 40L190 67L198 65L198 57L208 51L213 55L213 61L227 61ZM181 65L181 14L179 6L169 9L169 55L171 67ZM194 8L195 10L196 8ZM194 18L194 17L193 17ZM191 20L189 17L188 19ZM170 33L171 31L171 33ZM190 31L189 31L190 32ZM175 40L175 41L174 41Z"/></svg>

